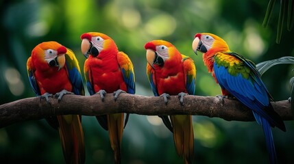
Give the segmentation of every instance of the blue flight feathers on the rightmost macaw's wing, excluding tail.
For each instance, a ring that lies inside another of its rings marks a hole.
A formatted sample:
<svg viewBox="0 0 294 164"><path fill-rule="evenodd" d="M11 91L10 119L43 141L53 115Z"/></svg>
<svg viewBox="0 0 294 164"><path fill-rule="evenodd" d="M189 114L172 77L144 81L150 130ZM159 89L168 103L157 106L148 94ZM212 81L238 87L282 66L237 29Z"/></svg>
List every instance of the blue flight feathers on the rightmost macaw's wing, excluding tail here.
<svg viewBox="0 0 294 164"><path fill-rule="evenodd" d="M282 122L278 113L273 111L271 104L269 103L269 96L267 89L262 83L259 77L249 76L249 79L242 77L241 73L237 76L233 76L228 72L228 68L224 66L217 66L214 64L215 76L219 85L228 90L230 94L235 96L238 100L243 102L244 105L260 115L262 118L268 120L272 125L278 126L282 130L285 129L284 123ZM255 79L255 80L253 80ZM260 123L260 118L256 119Z"/></svg>

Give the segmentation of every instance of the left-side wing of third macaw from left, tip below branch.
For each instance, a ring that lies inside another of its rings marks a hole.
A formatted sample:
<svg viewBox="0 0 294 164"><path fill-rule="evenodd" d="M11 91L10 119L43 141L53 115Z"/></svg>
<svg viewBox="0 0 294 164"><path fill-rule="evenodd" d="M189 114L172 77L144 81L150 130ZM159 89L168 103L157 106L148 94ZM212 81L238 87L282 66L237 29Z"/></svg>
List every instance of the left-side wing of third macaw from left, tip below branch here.
<svg viewBox="0 0 294 164"><path fill-rule="evenodd" d="M149 63L147 63L147 77L149 80L149 83L151 85L151 90L154 94L154 96L160 96L158 94L158 90L156 87L156 80L155 80L155 71L154 68L152 68L152 66L150 66ZM173 133L173 126L171 126L171 121L169 120L169 116L167 115L158 115L158 117L160 117L162 119L162 122L164 123L165 126L167 126L167 128L169 129L169 131L171 131Z"/></svg>

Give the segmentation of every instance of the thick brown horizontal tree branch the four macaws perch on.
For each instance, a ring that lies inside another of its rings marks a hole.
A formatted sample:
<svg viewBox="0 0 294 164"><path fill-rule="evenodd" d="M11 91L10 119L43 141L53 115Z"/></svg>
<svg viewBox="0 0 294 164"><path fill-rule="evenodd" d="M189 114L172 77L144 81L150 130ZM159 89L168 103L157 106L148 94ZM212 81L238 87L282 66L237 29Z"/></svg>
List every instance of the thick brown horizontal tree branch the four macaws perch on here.
<svg viewBox="0 0 294 164"><path fill-rule="evenodd" d="M185 96L184 106L177 96L171 96L167 105L162 97L120 94L114 101L112 94L106 94L104 102L99 95L65 95L60 102L49 98L51 103L38 97L25 98L0 105L0 128L27 120L40 120L54 115L80 114L103 115L110 113L136 113L138 115L191 114L217 117L224 120L254 121L252 111L238 100L210 96ZM283 120L293 120L291 103L288 100L271 102Z"/></svg>

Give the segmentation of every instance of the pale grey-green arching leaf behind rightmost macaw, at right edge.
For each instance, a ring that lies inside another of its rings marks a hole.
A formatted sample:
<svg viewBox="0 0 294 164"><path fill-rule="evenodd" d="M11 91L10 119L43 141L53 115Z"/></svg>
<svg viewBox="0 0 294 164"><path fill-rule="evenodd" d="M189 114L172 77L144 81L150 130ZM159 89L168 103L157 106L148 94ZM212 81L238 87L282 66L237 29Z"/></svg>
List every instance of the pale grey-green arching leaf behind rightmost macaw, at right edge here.
<svg viewBox="0 0 294 164"><path fill-rule="evenodd" d="M269 61L263 61L259 64L256 64L256 68L260 74L264 74L269 68L277 64L294 64L294 57L286 56L280 57L278 59L272 59Z"/></svg>

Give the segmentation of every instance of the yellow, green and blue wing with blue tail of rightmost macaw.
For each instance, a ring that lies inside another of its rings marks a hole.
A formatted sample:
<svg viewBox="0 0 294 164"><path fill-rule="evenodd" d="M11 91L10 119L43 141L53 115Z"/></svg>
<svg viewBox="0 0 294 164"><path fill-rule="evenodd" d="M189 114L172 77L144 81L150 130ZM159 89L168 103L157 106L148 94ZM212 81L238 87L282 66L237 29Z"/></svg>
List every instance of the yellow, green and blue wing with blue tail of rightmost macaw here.
<svg viewBox="0 0 294 164"><path fill-rule="evenodd" d="M232 55L236 59L233 64L228 64L219 59L221 55ZM276 163L271 126L277 126L282 131L286 131L286 128L280 115L273 110L269 102L271 96L265 84L261 81L255 65L252 61L248 61L237 53L218 53L215 56L214 70L219 85L228 90L249 109L252 109L256 122L262 125L265 133L270 161Z"/></svg>

